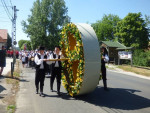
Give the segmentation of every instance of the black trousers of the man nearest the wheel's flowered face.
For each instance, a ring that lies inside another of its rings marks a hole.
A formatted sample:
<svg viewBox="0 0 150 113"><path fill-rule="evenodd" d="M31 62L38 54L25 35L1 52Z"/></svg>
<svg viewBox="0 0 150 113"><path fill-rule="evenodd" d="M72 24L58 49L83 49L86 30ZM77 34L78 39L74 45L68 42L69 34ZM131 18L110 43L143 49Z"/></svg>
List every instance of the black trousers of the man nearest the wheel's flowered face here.
<svg viewBox="0 0 150 113"><path fill-rule="evenodd" d="M52 69L52 75L51 75L51 78L50 78L50 87L51 87L51 90L53 90L53 84L54 84L55 78L57 79L57 92L60 92L61 68L59 68L59 67L54 67Z"/></svg>

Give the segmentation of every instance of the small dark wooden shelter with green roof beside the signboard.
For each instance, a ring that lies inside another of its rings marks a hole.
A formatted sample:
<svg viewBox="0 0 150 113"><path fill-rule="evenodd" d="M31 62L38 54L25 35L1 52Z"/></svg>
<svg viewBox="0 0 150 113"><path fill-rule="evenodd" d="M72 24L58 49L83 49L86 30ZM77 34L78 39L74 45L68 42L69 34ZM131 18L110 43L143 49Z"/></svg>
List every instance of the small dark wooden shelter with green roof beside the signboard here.
<svg viewBox="0 0 150 113"><path fill-rule="evenodd" d="M105 47L108 51L109 62L118 64L118 51L131 50L132 47L126 47L119 42L102 41L100 45Z"/></svg>

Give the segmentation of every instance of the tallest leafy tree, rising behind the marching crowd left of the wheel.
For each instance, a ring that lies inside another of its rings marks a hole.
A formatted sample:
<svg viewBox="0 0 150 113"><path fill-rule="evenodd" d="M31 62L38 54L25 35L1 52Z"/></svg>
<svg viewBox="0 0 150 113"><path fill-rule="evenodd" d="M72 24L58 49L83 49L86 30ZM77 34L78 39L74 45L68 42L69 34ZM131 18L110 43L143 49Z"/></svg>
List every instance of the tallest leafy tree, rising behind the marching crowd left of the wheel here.
<svg viewBox="0 0 150 113"><path fill-rule="evenodd" d="M36 0L27 21L22 21L23 30L29 35L33 49L39 45L54 48L62 26L70 18L64 0Z"/></svg>

